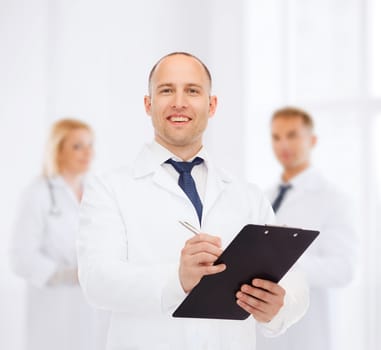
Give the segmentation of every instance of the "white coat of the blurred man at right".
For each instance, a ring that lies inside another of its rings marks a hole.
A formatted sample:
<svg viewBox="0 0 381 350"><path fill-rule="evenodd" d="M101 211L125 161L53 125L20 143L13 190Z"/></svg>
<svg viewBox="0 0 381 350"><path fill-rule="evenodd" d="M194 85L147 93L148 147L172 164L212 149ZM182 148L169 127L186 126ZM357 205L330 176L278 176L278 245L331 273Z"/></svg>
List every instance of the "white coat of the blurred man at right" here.
<svg viewBox="0 0 381 350"><path fill-rule="evenodd" d="M354 272L356 240L351 204L317 170L309 168L290 181L276 216L278 224L316 229L320 236L299 260L310 289L310 308L286 334L268 339L258 336L263 350L330 350L334 300L329 290L348 284ZM278 186L269 191L273 201Z"/></svg>

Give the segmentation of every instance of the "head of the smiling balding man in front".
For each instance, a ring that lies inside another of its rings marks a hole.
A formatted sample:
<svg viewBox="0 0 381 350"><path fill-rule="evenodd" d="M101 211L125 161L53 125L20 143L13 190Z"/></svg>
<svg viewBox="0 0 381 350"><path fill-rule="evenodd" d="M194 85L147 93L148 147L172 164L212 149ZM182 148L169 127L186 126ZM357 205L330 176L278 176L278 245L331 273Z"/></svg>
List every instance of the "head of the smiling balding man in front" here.
<svg viewBox="0 0 381 350"><path fill-rule="evenodd" d="M217 98L210 96L210 81L202 64L176 54L157 65L144 105L155 140L184 159L184 155L192 157L200 150Z"/></svg>

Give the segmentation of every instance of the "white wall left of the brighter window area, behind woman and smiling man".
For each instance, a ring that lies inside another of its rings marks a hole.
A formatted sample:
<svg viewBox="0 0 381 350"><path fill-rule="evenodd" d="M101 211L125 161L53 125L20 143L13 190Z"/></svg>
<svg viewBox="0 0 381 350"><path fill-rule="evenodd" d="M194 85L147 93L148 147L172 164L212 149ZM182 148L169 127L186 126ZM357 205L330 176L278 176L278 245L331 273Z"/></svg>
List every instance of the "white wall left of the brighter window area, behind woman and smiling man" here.
<svg viewBox="0 0 381 350"><path fill-rule="evenodd" d="M189 51L213 72L220 98L206 142L243 172L242 4L0 1L1 349L23 349L24 284L9 269L7 249L18 196L40 172L51 122L73 116L94 126L96 169L128 162L152 138L143 109L150 68L164 54Z"/></svg>

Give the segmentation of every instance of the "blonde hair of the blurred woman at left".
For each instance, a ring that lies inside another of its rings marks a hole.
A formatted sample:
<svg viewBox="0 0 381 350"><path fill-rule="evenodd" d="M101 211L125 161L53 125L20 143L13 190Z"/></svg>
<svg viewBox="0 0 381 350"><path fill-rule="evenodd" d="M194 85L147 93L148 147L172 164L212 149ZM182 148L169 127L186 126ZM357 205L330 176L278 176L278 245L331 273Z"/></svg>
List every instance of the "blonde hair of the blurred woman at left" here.
<svg viewBox="0 0 381 350"><path fill-rule="evenodd" d="M60 173L58 156L62 145L69 132L77 129L85 129L93 133L90 125L71 118L60 119L52 125L45 150L43 165L44 176L51 177Z"/></svg>

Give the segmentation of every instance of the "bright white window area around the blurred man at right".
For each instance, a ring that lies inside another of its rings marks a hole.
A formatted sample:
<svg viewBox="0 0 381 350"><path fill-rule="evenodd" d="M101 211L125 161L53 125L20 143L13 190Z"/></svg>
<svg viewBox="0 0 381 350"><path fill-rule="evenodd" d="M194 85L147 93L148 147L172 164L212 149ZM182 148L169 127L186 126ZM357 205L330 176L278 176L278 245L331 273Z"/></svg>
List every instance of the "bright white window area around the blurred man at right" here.
<svg viewBox="0 0 381 350"><path fill-rule="evenodd" d="M378 0L281 3L247 3L246 174L262 187L279 178L269 130L276 108L296 105L313 115L319 138L313 163L352 199L360 250L357 279L333 293L334 348L379 349L381 179L379 142L372 146L372 138L381 137L375 123L381 6Z"/></svg>

